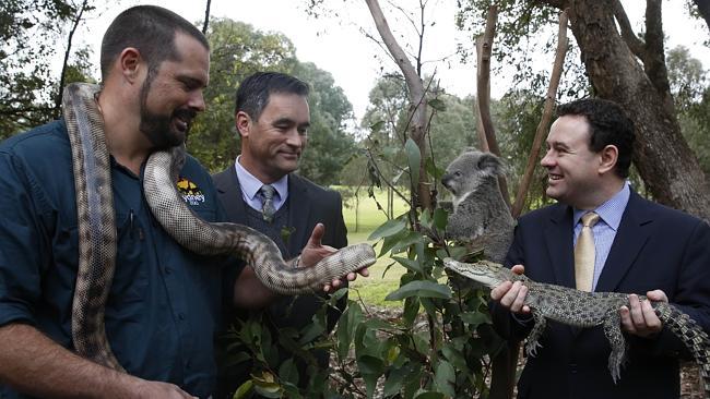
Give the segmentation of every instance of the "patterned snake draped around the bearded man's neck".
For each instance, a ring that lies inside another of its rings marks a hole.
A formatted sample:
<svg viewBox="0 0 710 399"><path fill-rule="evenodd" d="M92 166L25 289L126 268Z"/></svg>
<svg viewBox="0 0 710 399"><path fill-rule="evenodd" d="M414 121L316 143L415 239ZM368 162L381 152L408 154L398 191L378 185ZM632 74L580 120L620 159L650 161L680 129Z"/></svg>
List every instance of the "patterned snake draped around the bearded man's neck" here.
<svg viewBox="0 0 710 399"><path fill-rule="evenodd" d="M116 261L116 222L110 155L96 104L98 86L71 84L63 94L63 113L72 149L79 225L79 266L72 303L72 339L80 355L122 371L111 352L104 309ZM267 235L235 223L210 223L197 217L176 189L185 147L155 152L147 160L143 188L149 206L165 231L180 245L202 255L234 254L250 265L261 282L283 294L318 290L332 279L375 263L368 244L351 245L317 265L295 268ZM190 226L185 229L185 226Z"/></svg>

